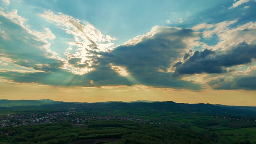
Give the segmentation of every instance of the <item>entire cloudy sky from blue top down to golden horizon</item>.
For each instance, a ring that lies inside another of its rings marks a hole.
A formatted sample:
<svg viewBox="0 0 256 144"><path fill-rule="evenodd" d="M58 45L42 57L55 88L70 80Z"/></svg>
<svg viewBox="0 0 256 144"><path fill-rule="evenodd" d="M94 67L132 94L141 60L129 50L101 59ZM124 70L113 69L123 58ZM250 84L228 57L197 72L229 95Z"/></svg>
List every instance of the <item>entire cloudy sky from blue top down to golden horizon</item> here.
<svg viewBox="0 0 256 144"><path fill-rule="evenodd" d="M256 0L1 0L0 99L256 106Z"/></svg>

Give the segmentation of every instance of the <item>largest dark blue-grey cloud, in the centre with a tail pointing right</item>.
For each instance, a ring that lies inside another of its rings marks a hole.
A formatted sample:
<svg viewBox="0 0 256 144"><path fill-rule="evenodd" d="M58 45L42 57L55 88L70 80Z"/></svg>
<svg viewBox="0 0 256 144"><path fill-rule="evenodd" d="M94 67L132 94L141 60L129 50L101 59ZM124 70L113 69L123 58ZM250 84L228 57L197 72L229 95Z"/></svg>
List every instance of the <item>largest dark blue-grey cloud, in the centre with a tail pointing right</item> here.
<svg viewBox="0 0 256 144"><path fill-rule="evenodd" d="M170 78L167 69L179 58L180 52L186 48L184 38L193 36L192 30L164 28L151 38L135 45L118 46L111 52L98 53L99 66L123 66L138 84L147 86L200 89L200 85L177 78ZM137 84L134 83L133 84Z"/></svg>

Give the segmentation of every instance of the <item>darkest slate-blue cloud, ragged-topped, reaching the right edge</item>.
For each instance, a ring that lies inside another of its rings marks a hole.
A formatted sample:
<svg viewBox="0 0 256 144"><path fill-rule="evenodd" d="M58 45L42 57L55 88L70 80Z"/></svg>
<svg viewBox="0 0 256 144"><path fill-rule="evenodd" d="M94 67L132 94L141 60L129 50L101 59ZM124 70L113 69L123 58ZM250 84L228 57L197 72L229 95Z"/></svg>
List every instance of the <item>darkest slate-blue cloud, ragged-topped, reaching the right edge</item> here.
<svg viewBox="0 0 256 144"><path fill-rule="evenodd" d="M239 64L247 64L256 58L256 45L248 45L246 42L234 46L226 51L226 54L217 55L212 50L205 49L202 52L196 51L185 60L182 65L177 66L173 77L182 74L200 73L226 73L227 67Z"/></svg>

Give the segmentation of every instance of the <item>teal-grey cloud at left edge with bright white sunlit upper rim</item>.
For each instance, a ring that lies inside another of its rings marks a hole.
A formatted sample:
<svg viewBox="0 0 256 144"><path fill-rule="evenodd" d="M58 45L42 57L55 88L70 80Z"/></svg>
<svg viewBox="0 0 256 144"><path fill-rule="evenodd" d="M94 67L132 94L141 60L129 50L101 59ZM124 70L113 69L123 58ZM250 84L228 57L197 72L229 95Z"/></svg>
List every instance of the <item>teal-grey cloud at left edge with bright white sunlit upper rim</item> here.
<svg viewBox="0 0 256 144"><path fill-rule="evenodd" d="M1 30L6 36L0 37L0 57L17 70L31 72L54 72L64 63L50 50L50 40L55 36L49 28L42 32L30 29L27 19L18 15L17 10L0 12Z"/></svg>

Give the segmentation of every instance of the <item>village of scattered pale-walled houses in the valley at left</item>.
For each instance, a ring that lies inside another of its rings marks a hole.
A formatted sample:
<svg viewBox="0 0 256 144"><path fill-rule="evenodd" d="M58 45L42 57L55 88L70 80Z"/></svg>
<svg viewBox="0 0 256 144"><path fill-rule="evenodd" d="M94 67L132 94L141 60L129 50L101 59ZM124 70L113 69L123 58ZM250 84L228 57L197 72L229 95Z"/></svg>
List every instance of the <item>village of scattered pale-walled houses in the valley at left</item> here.
<svg viewBox="0 0 256 144"><path fill-rule="evenodd" d="M1 128L20 125L36 125L46 123L68 122L73 126L87 125L89 120L122 120L134 121L139 123L148 122L142 118L131 118L128 116L87 116L87 117L74 117L71 116L75 112L42 112L33 114L8 114L0 116Z"/></svg>

